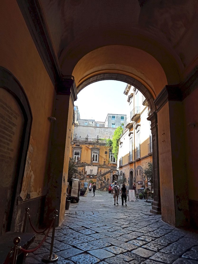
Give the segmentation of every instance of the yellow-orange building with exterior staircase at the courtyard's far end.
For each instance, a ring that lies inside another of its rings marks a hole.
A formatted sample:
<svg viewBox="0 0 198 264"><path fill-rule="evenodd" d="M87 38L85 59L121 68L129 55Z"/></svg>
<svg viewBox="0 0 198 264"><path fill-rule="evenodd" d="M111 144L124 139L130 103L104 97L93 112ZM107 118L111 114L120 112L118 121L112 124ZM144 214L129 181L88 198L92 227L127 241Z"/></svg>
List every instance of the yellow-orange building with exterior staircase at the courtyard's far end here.
<svg viewBox="0 0 198 264"><path fill-rule="evenodd" d="M75 127L73 131L75 133ZM104 138L74 137L70 145L70 157L76 160L81 181L96 183L97 189L108 190L111 175L117 172L117 164Z"/></svg>

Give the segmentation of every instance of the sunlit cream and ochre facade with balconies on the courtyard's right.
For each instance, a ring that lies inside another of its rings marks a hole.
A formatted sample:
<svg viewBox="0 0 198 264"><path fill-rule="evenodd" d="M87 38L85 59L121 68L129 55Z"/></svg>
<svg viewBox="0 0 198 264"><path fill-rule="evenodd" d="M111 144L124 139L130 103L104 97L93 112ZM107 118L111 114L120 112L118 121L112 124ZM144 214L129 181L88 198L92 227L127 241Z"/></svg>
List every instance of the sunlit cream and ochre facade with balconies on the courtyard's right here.
<svg viewBox="0 0 198 264"><path fill-rule="evenodd" d="M119 140L118 167L119 179L126 179L127 188L136 183L137 193L141 185L151 187L143 175L143 169L152 162L152 135L148 102L140 91L127 84L127 120Z"/></svg>

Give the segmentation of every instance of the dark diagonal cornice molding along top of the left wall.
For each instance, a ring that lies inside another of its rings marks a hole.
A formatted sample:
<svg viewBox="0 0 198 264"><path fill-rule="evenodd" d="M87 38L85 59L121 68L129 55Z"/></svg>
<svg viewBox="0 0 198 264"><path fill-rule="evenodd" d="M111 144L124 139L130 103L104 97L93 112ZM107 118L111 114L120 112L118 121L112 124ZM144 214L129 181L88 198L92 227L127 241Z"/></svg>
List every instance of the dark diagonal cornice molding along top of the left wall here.
<svg viewBox="0 0 198 264"><path fill-rule="evenodd" d="M40 3L38 0L17 0L17 3L47 73L57 89L57 84L61 82L61 70Z"/></svg>

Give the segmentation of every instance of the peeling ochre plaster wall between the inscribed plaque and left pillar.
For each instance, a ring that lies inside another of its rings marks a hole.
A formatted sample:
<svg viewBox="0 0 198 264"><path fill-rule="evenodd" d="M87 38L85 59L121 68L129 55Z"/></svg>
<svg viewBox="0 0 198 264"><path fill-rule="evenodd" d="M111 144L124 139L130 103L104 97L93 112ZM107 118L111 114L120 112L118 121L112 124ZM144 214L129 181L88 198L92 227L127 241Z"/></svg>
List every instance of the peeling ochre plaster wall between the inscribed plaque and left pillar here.
<svg viewBox="0 0 198 264"><path fill-rule="evenodd" d="M54 112L55 89L33 43L15 0L3 1L0 10L0 65L18 79L33 115L21 198L45 195L47 151Z"/></svg>

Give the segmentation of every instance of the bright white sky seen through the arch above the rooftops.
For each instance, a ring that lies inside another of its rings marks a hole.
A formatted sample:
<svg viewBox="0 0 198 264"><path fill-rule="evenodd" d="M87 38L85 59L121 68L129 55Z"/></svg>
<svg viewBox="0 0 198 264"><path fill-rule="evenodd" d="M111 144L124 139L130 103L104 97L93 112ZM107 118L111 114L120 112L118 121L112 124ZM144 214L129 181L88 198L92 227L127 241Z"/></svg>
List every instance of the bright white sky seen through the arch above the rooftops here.
<svg viewBox="0 0 198 264"><path fill-rule="evenodd" d="M100 81L86 86L78 93L74 105L78 106L81 119L104 122L107 114L127 114L127 96L123 94L127 83Z"/></svg>

